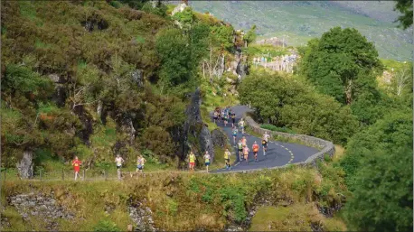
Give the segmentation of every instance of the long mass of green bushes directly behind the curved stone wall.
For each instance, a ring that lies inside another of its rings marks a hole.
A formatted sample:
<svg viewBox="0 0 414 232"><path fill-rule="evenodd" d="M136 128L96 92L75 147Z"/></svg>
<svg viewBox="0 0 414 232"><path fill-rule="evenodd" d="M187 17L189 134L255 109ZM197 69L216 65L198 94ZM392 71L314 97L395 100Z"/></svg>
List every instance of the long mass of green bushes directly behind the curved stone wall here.
<svg viewBox="0 0 414 232"><path fill-rule="evenodd" d="M259 72L243 79L239 92L241 103L255 107L260 121L300 134L345 144L358 127L349 107L315 93L300 79Z"/></svg>

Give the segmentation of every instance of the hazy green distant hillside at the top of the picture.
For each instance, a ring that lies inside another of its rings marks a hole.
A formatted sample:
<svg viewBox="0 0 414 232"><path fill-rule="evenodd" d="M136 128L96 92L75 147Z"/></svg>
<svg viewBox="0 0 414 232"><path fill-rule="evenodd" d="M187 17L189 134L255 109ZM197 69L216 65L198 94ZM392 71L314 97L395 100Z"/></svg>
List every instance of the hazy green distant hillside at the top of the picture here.
<svg viewBox="0 0 414 232"><path fill-rule="evenodd" d="M261 38L285 37L301 45L334 26L354 27L375 43L383 59L412 60L412 28L392 23L399 13L384 1L190 1L197 11L210 12L237 29L258 26Z"/></svg>

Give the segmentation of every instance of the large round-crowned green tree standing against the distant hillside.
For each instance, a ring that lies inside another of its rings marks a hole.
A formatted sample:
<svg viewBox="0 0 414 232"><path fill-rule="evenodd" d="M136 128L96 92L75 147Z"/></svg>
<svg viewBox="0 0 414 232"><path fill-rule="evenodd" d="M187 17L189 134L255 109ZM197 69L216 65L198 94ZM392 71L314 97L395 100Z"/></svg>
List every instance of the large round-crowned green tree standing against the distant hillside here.
<svg viewBox="0 0 414 232"><path fill-rule="evenodd" d="M308 42L300 67L322 93L347 105L358 91L355 81L380 69L378 51L372 42L355 29L340 27L325 32L320 40Z"/></svg>

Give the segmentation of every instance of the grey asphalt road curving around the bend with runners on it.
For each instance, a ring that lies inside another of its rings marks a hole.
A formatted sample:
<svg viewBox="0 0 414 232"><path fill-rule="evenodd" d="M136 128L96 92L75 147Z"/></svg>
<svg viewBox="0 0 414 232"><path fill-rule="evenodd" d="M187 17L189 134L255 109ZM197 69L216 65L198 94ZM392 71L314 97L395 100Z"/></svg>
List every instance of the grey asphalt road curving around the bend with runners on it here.
<svg viewBox="0 0 414 232"><path fill-rule="evenodd" d="M236 113L236 124L239 122L240 117L243 116L245 112L250 111L249 107L246 106L235 106L231 107L231 110ZM212 116L212 113L211 113ZM217 123L226 133L226 135L231 139L231 144L233 143L233 137L231 132L231 123L229 123L226 127L224 127L223 122ZM237 125L236 125L237 126ZM241 134L237 136L236 141L239 141L241 138ZM231 172L231 171L242 171L242 170L252 170L252 169L264 169L264 168L271 168L276 166L284 166L289 163L295 162L304 162L306 159L315 154L319 151L313 147L309 147L306 145L301 144L289 144L289 143L282 143L282 142L274 142L268 141L268 152L266 156L263 155L263 147L261 145L261 138L244 134L247 139L247 145L249 146L249 163L246 161L239 160L239 154L231 155L231 162L234 162L231 166L231 170L226 170L225 168L220 170L215 170L212 172ZM259 144L259 153L258 153L258 161L254 161L254 155L252 152L252 145L254 141L257 141ZM237 151L236 149L234 149Z"/></svg>

